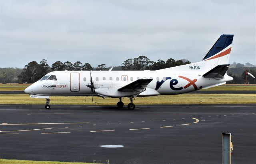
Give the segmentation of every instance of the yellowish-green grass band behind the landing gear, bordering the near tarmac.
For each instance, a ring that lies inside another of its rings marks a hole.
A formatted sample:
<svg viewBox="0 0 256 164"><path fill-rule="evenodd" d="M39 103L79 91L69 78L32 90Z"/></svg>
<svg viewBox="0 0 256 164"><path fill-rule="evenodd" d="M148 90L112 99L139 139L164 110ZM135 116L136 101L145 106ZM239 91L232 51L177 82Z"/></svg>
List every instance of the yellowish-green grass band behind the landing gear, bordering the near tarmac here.
<svg viewBox="0 0 256 164"><path fill-rule="evenodd" d="M84 96L51 96L52 105L116 105L118 98ZM129 99L122 99L128 105ZM45 99L30 98L27 94L2 94L0 104L45 104ZM172 105L172 104L253 104L256 103L256 94L182 94L160 95L152 97L137 97L136 105Z"/></svg>

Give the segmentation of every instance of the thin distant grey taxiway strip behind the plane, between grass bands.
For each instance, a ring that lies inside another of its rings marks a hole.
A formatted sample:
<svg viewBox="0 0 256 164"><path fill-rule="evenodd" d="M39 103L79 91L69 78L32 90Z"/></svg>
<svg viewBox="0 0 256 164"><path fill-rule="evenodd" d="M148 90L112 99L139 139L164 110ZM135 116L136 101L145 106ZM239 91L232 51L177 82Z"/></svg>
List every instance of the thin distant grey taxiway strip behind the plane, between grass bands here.
<svg viewBox="0 0 256 164"><path fill-rule="evenodd" d="M23 94L24 91L0 91L0 94ZM194 91L190 93L199 94L256 94L256 91ZM188 93L188 94L190 94ZM25 94L25 93L24 93ZM185 93L186 94L186 93Z"/></svg>

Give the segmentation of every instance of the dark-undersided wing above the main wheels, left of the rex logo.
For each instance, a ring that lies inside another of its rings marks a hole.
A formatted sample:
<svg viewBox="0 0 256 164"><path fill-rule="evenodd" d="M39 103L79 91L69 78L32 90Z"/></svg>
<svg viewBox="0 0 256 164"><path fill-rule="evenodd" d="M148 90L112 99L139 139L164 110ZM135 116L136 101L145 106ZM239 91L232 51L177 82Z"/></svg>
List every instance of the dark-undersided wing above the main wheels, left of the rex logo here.
<svg viewBox="0 0 256 164"><path fill-rule="evenodd" d="M153 79L138 79L128 85L125 85L124 87L121 87L118 89L118 91L123 91L123 92L131 92L131 91L137 91L137 92L142 92L148 84L152 81Z"/></svg>

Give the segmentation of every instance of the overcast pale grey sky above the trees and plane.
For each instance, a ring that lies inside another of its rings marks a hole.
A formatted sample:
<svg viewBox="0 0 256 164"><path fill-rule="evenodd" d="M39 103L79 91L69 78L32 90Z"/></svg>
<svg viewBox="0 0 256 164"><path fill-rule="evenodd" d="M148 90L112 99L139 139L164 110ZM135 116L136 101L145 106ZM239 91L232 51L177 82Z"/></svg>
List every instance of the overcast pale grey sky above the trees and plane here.
<svg viewBox="0 0 256 164"><path fill-rule="evenodd" d="M0 0L0 67L200 61L234 34L230 63L256 65L255 0Z"/></svg>

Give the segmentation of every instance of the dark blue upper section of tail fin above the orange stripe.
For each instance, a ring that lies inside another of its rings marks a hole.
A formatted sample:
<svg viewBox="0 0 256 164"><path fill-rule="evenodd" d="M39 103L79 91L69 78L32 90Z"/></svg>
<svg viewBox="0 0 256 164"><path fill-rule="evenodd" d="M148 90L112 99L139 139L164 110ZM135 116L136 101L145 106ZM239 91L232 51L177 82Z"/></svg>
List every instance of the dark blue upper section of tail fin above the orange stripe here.
<svg viewBox="0 0 256 164"><path fill-rule="evenodd" d="M216 53L219 53L220 51L228 47L228 45L232 43L233 37L234 35L221 35L220 38L216 41L216 43L212 46L210 51L205 55L204 59L212 57Z"/></svg>

